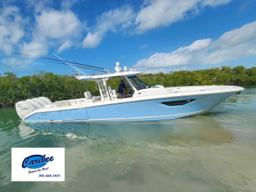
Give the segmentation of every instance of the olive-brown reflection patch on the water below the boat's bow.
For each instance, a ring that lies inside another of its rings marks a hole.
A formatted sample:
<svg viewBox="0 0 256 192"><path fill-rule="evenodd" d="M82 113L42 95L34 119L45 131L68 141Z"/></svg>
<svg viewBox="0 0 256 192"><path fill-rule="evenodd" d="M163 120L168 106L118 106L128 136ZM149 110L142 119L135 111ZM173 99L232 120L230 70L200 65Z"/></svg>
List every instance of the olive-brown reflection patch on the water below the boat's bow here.
<svg viewBox="0 0 256 192"><path fill-rule="evenodd" d="M161 139L175 146L198 146L206 144L232 143L235 137L231 130L225 129L218 120L210 116L191 117L185 123L174 125L174 131ZM182 127L181 129L179 129Z"/></svg>

